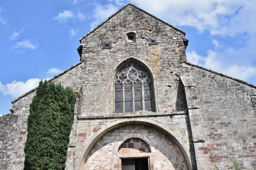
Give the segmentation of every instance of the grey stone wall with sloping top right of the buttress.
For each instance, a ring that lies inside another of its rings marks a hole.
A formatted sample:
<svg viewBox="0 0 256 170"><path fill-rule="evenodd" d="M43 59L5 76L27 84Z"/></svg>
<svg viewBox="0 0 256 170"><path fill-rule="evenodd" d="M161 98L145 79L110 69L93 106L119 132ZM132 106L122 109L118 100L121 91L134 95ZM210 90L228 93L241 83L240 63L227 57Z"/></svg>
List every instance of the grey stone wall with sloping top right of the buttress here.
<svg viewBox="0 0 256 170"><path fill-rule="evenodd" d="M190 75L181 79L186 86L198 169L210 169L214 164L221 170L230 169L231 155L242 169L253 169L256 87L195 65L187 66Z"/></svg>

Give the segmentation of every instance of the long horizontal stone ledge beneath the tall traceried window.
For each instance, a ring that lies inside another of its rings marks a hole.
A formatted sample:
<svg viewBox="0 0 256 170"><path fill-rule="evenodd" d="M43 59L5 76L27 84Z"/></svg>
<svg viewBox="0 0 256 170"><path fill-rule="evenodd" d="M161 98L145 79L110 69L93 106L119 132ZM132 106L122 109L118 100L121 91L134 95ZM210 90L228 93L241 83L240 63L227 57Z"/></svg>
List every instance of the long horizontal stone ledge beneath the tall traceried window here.
<svg viewBox="0 0 256 170"><path fill-rule="evenodd" d="M149 112L139 111L135 113L113 113L110 115L95 115L95 116L78 116L77 119L106 119L106 118L124 118L124 117L140 117L140 116L167 116L167 115L187 115L186 111L176 112Z"/></svg>

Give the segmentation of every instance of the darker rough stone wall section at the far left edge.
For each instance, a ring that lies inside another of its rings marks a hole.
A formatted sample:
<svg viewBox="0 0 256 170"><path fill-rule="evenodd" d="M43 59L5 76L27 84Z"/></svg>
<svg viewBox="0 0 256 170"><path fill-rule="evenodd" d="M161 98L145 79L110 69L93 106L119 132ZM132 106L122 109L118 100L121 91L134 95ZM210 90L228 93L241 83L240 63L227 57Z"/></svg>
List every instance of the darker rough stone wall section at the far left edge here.
<svg viewBox="0 0 256 170"><path fill-rule="evenodd" d="M14 146L18 115L12 113L0 116L0 170L6 170Z"/></svg>

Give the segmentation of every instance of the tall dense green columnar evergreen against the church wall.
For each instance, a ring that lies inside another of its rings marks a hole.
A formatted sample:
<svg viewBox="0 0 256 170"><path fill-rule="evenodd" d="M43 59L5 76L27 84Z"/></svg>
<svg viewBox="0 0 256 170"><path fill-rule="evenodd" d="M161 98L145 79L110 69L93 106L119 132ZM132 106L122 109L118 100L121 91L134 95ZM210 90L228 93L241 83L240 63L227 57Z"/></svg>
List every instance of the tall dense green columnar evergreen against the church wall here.
<svg viewBox="0 0 256 170"><path fill-rule="evenodd" d="M75 102L71 88L41 80L29 109L24 170L64 170Z"/></svg>

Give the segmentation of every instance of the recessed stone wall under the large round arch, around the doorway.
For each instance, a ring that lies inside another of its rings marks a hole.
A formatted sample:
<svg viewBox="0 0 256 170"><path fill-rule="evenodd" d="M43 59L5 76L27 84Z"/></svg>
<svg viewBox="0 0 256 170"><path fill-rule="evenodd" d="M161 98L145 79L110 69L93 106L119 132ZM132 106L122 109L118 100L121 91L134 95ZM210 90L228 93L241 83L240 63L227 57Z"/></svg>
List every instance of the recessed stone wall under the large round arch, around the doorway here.
<svg viewBox="0 0 256 170"><path fill-rule="evenodd" d="M130 135L140 137L130 138ZM128 141L131 139L132 141ZM143 140L145 145L149 145L150 152L139 150L143 148L139 143L140 140ZM127 146L119 150L123 142L126 142ZM137 150L134 149L136 144L138 144ZM87 157L84 170L121 170L122 158L143 156L149 157L151 170L188 169L182 152L168 135L153 127L127 125L113 129L98 140Z"/></svg>

